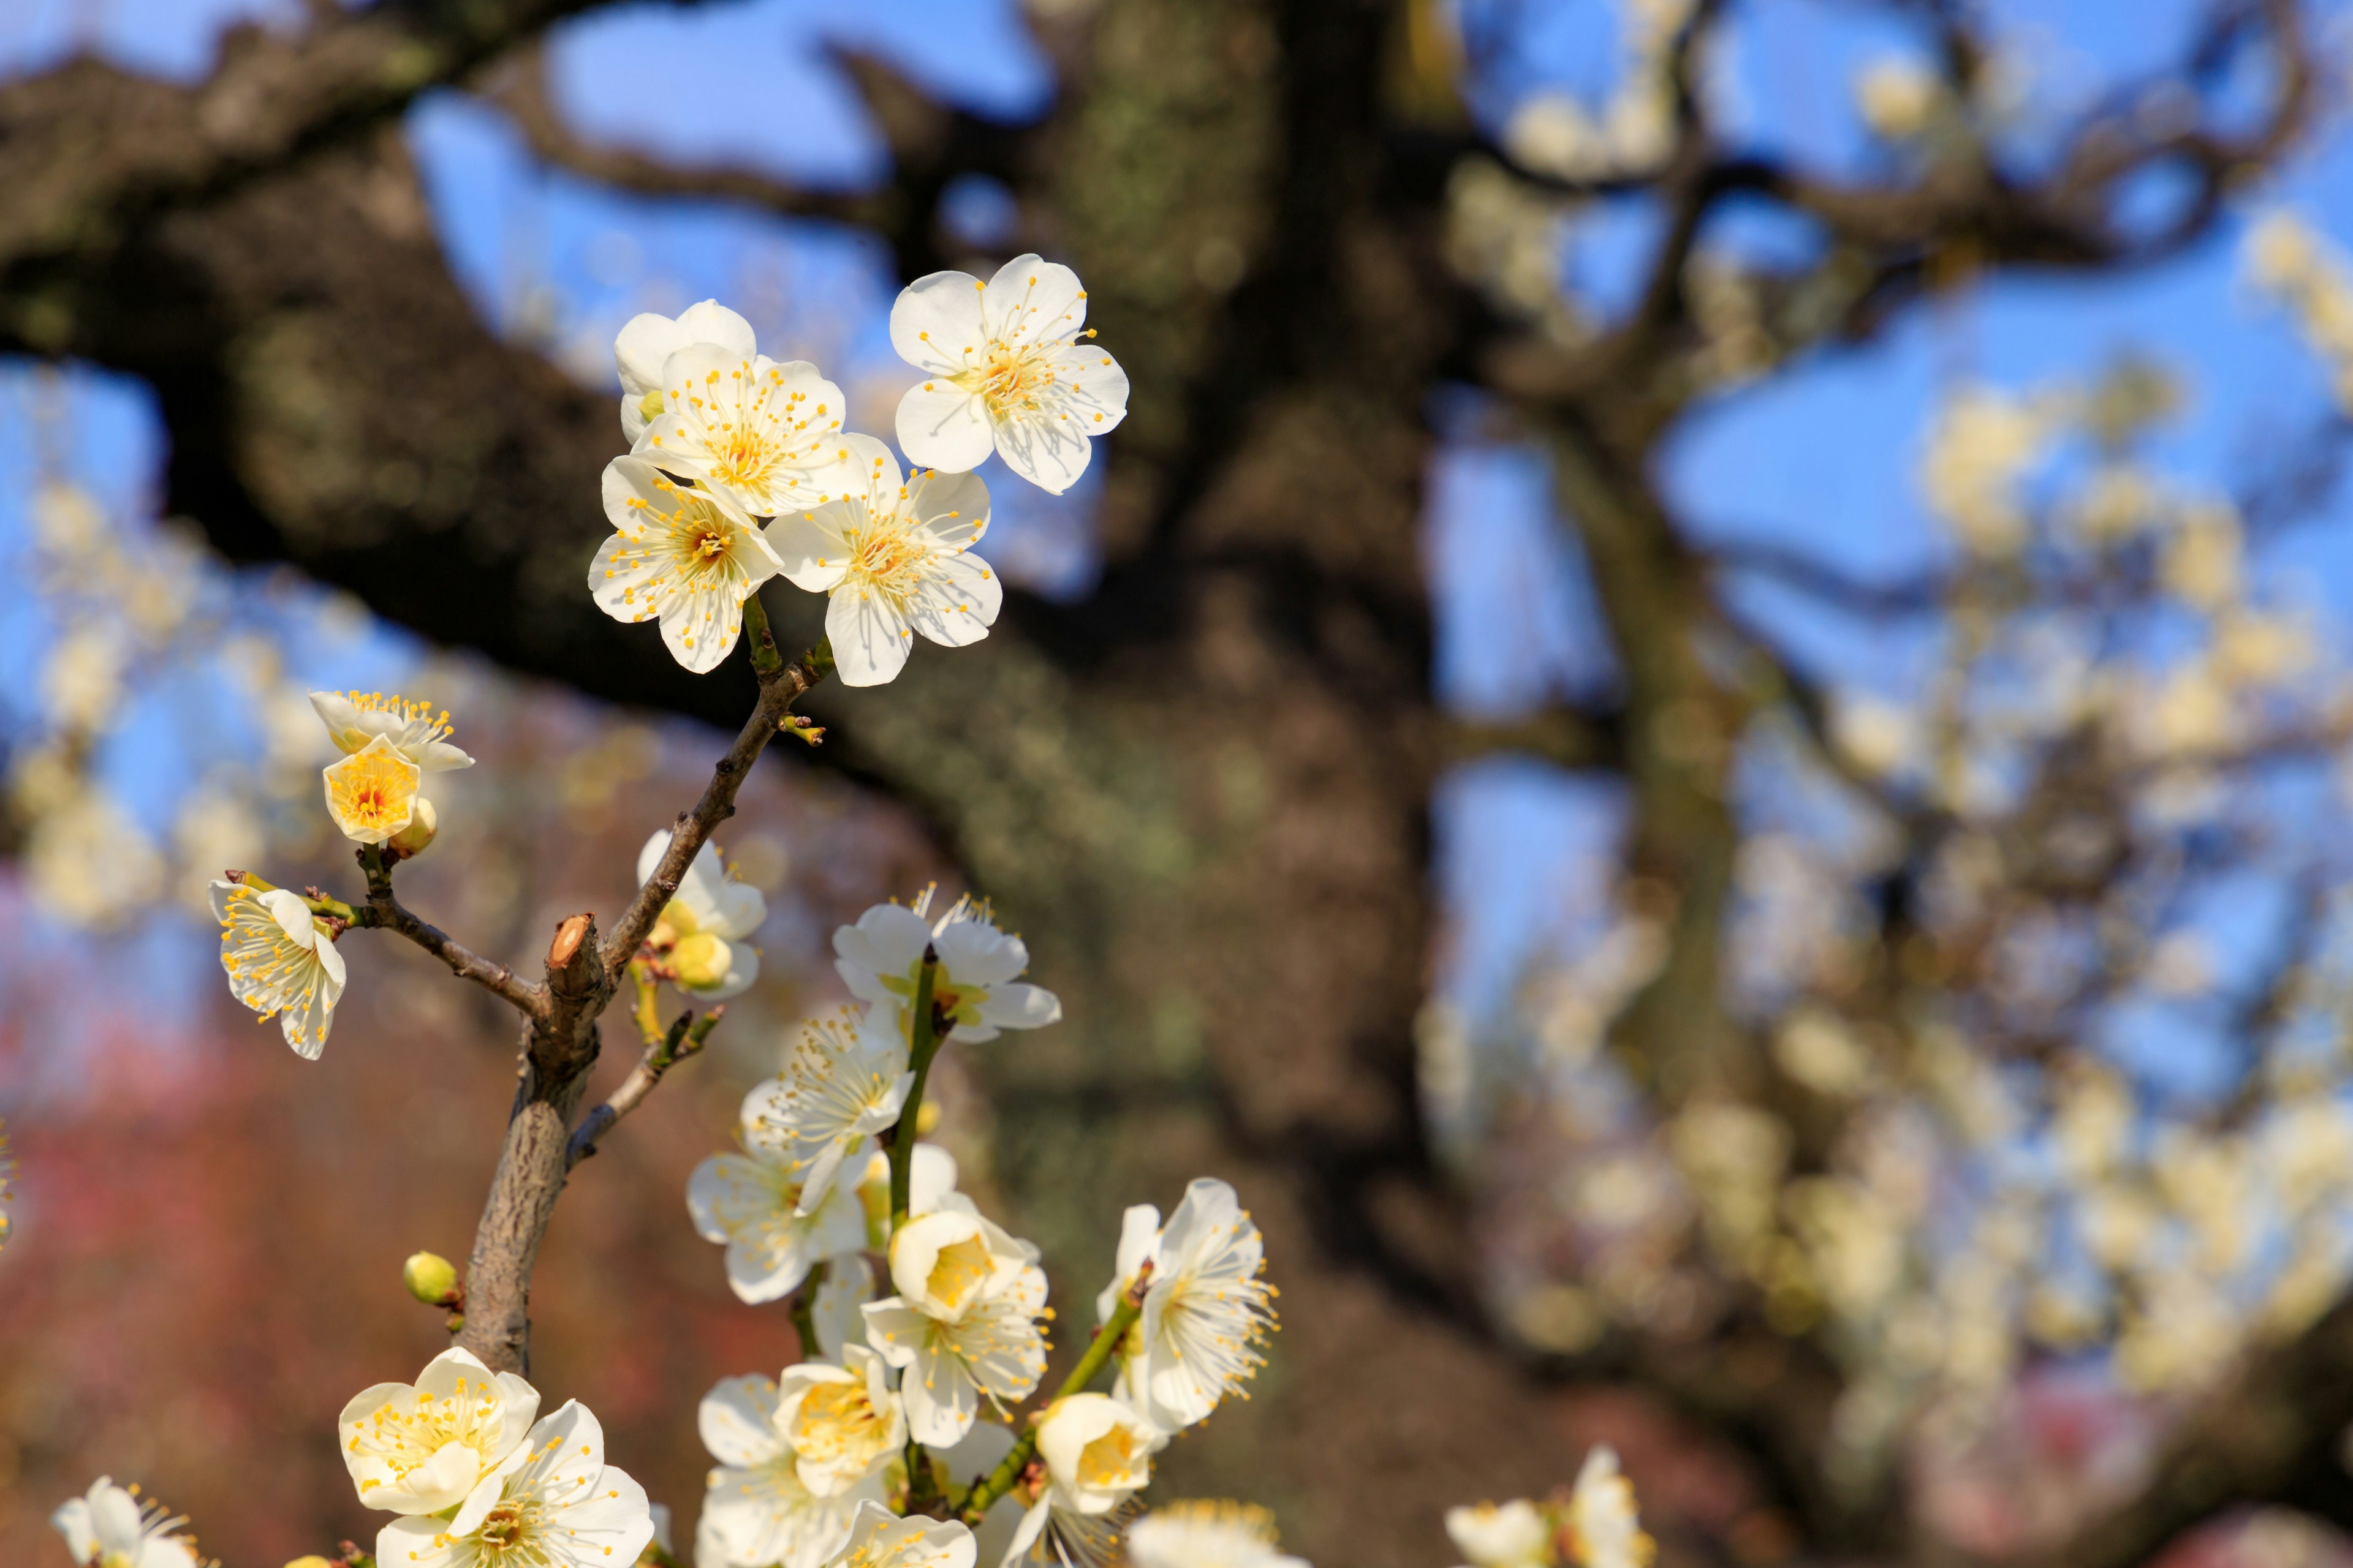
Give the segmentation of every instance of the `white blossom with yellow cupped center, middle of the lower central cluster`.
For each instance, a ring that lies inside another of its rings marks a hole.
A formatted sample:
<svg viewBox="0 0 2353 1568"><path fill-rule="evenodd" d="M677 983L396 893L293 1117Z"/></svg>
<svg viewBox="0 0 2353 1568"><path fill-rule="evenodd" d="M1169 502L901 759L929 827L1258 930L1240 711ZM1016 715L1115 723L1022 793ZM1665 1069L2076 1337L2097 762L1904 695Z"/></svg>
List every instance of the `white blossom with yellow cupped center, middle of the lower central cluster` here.
<svg viewBox="0 0 2353 1568"><path fill-rule="evenodd" d="M991 1253L979 1229L946 1244L941 1234L925 1234L911 1248L899 1246L939 1220L958 1218L976 1215L941 1211L899 1227L892 1279L901 1281L901 1291L906 1281L918 1284L920 1298L901 1293L866 1305L866 1342L901 1371L908 1432L934 1448L972 1429L981 1399L1002 1413L1045 1378L1047 1345L1038 1331L1045 1269ZM951 1307L953 1316L936 1316L936 1309Z"/></svg>

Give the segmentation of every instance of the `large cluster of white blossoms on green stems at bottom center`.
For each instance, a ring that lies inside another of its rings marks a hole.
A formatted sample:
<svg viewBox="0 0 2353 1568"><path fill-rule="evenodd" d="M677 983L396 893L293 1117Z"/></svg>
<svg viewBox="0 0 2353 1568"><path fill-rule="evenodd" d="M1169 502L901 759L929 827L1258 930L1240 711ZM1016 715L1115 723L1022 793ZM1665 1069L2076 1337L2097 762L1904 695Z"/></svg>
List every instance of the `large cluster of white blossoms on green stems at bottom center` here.
<svg viewBox="0 0 2353 1568"><path fill-rule="evenodd" d="M715 1467L696 1568L1115 1561L1158 1519L1136 1521L1153 1455L1261 1363L1275 1312L1259 1229L1214 1178L1165 1225L1129 1208L1087 1352L1021 1420L1049 1354L1038 1248L904 1128L944 1046L1049 1025L1061 1004L1021 978L1028 947L972 898L936 917L929 889L875 905L833 950L859 1006L802 1027L744 1098L739 1147L687 1182L727 1284L746 1302L795 1298L805 1347L776 1378L704 1399ZM1089 1387L1106 1373L1108 1392ZM1158 1526L1162 1552L1195 1552L1193 1530L1235 1563L1292 1561L1264 1514L1221 1507Z"/></svg>

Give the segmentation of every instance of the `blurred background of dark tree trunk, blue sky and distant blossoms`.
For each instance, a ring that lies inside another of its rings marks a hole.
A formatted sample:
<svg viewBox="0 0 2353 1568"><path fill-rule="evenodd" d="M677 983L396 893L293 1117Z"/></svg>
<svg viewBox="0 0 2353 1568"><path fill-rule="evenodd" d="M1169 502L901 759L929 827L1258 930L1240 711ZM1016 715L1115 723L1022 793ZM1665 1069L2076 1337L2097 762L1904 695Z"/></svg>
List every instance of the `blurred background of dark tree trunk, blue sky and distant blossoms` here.
<svg viewBox="0 0 2353 1568"><path fill-rule="evenodd" d="M612 914L746 698L579 590L614 331L718 296L887 435L899 284L1021 249L1134 414L1068 496L984 470L984 649L760 764L760 987L541 1260L534 1380L680 1540L699 1394L798 1354L685 1175L939 882L1071 1004L939 1131L1056 1300L1198 1171L1268 1227L1172 1495L1442 1566L1612 1441L1678 1566L2346 1556L2341 7L492 5L421 89L306 63L461 12L0 0L0 1561L101 1472L233 1566L367 1540L332 1418L442 1345L398 1267L471 1246L506 1018L355 933L299 1063L202 912L355 889L304 693L478 757L412 907Z"/></svg>

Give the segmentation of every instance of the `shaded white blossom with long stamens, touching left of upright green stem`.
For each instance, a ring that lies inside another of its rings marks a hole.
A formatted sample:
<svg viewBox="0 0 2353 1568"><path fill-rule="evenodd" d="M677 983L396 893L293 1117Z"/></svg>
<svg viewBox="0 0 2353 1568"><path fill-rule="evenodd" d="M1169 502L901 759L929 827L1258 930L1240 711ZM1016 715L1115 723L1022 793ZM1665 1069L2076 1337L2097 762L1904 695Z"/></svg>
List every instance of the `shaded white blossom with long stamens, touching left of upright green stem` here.
<svg viewBox="0 0 2353 1568"><path fill-rule="evenodd" d="M800 1208L816 1208L842 1161L896 1126L915 1074L887 1023L842 1009L802 1025L784 1072L744 1095L744 1143L776 1150L800 1171Z"/></svg>

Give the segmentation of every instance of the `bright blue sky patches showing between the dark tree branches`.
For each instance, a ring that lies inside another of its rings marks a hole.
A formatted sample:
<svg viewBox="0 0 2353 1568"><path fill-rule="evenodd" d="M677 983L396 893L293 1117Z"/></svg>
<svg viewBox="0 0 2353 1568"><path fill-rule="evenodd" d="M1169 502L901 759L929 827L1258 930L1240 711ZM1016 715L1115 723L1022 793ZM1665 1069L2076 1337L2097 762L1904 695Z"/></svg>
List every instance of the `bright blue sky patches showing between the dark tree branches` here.
<svg viewBox="0 0 2353 1568"><path fill-rule="evenodd" d="M1473 19L1487 16L1468 0ZM2188 0L2007 0L1991 7L2017 40L2028 85L2054 120L2134 73L2172 59L2195 14ZM0 73L94 47L125 66L200 75L231 19L285 24L296 0L14 0L0 7ZM1520 7L1511 71L1485 108L1539 87L1593 92L1614 59L1609 24L1591 0ZM1737 5L1718 80L1732 134L1814 167L1864 174L1875 158L1852 113L1847 78L1864 61L1918 52L1904 26L1833 0ZM741 162L824 186L880 172L864 110L826 63L826 47L873 49L934 92L984 113L1033 113L1052 94L1047 66L1014 0L736 0L699 9L614 7L553 38L558 99L584 132L685 162ZM692 82L692 89L685 85ZM2033 125L2033 120L2031 120ZM711 207L649 202L536 169L499 118L459 94L435 94L409 120L412 141L452 261L482 310L539 334L581 374L595 374L612 329L633 310L751 292L762 336L821 348L828 374L892 374L880 336L892 280L864 235ZM2275 190L2339 240L2353 237L2353 150L2337 136ZM2129 280L2005 280L1965 301L1915 310L1882 341L1838 350L1737 390L1687 421L1664 458L1664 484L1699 541L1769 538L1819 550L1859 576L1932 562L1913 487L1920 433L1939 393L1984 378L2028 386L2085 378L2122 346L2184 374L2193 397L2167 430L2158 465L2228 484L2266 440L2304 428L2325 381L2285 322L2235 280L2233 216L2224 235ZM1626 296L1657 226L1626 207L1588 226L1572 275L1605 303ZM1720 235L1744 249L1805 244L1786 226L1732 219ZM139 505L155 473L158 433L136 388L101 386L78 428L78 468ZM19 456L24 421L0 411L0 449ZM868 421L871 423L871 421ZM993 487L1026 494L1026 487ZM1045 590L1080 592L1092 571L1085 496L1009 515L1005 562ZM0 496L0 550L21 545L21 503ZM993 541L995 543L995 541ZM1607 679L1591 595L1579 581L1527 451L1449 442L1431 473L1433 595L1440 611L1438 686L1466 710L1508 715L1555 691ZM2339 616L2353 599L2341 529L2311 531L2266 562L2289 592ZM1809 663L1871 668L1901 684L1915 630L1842 623L1788 592L1751 590L1744 604ZM40 616L0 599L0 663L28 672ZM386 639L367 656L395 656ZM24 682L16 682L19 686ZM1473 1013L1497 1006L1529 950L1551 936L1562 877L1605 842L1607 790L1527 764L1459 773L1438 804L1440 889L1459 917L1452 987Z"/></svg>

